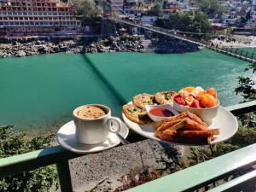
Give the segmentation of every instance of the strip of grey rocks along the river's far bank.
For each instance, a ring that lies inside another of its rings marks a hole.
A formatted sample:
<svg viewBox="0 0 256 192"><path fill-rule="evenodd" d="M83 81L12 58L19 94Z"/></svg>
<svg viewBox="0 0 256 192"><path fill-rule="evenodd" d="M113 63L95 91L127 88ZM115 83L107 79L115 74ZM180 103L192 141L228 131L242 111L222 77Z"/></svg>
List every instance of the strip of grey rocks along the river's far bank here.
<svg viewBox="0 0 256 192"><path fill-rule="evenodd" d="M195 44L170 38L145 39L124 34L98 41L70 40L13 40L0 44L0 58L54 53L84 54L108 52L185 53L198 50Z"/></svg>

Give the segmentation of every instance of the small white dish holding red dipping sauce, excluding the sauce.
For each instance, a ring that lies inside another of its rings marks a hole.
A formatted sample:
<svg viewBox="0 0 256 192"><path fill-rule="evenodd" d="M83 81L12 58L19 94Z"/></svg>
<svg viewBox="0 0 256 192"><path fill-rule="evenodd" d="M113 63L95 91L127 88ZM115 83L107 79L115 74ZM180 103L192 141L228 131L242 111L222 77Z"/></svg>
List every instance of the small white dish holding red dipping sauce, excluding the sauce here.
<svg viewBox="0 0 256 192"><path fill-rule="evenodd" d="M150 117L150 119L154 120L154 122L170 119L172 116L170 116L170 117L156 116L156 115L154 115L152 113L149 113L149 110L152 109L152 108L165 108L165 109L171 111L174 115L178 114L177 111L174 108L172 108L172 106L169 105L169 104L164 104L164 105L146 105L145 108L146 108L146 111L148 113L148 116Z"/></svg>

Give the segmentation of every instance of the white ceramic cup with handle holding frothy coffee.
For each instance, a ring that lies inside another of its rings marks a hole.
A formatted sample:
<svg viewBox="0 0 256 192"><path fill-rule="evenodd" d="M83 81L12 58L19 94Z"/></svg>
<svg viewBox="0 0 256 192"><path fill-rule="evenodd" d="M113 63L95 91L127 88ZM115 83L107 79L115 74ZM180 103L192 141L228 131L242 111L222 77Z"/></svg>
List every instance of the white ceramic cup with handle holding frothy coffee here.
<svg viewBox="0 0 256 192"><path fill-rule="evenodd" d="M79 117L78 111L87 106L101 108L106 114L96 119ZM122 125L119 118L111 116L110 108L101 104L88 104L75 108L73 118L76 126L76 138L79 143L84 144L102 143L108 139L109 132L119 132ZM112 124L111 121L116 121L117 124Z"/></svg>

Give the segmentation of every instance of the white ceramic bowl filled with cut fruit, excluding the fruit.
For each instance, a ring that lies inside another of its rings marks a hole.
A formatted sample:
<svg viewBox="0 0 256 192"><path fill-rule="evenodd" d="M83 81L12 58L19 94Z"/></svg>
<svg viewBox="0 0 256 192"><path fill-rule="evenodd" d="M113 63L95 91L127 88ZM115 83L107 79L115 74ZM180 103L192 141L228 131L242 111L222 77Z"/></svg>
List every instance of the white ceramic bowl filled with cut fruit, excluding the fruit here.
<svg viewBox="0 0 256 192"><path fill-rule="evenodd" d="M173 101L173 108L175 110L177 110L178 112L189 111L191 113L195 113L198 117L200 117L203 121L205 121L207 125L210 125L212 122L212 119L216 117L218 113L218 107L219 107L219 102L218 102L218 105L213 108L190 108L188 106L183 106Z"/></svg>

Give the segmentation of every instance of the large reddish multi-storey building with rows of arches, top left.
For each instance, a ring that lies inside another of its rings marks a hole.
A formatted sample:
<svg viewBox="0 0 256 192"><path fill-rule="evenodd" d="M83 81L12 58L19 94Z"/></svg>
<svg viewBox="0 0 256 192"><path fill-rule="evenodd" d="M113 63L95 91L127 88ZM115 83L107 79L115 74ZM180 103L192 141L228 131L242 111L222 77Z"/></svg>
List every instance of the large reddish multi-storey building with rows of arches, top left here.
<svg viewBox="0 0 256 192"><path fill-rule="evenodd" d="M71 0L0 0L0 37L81 34Z"/></svg>

